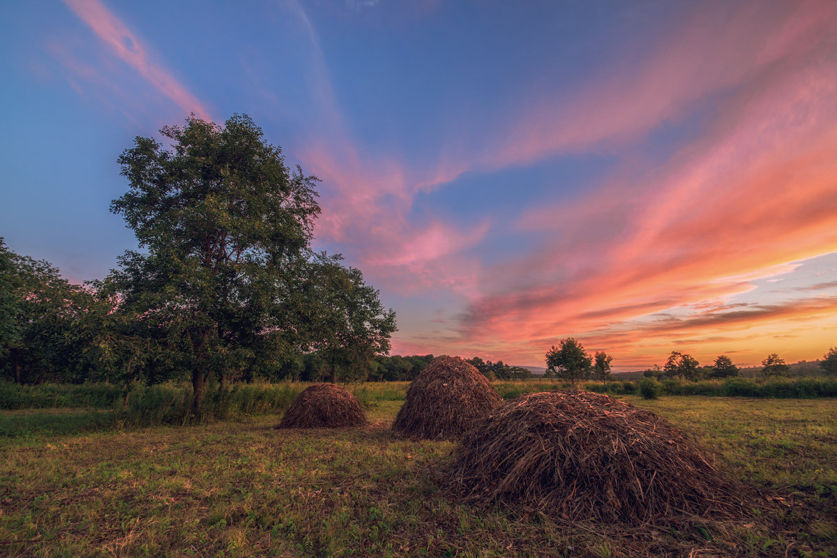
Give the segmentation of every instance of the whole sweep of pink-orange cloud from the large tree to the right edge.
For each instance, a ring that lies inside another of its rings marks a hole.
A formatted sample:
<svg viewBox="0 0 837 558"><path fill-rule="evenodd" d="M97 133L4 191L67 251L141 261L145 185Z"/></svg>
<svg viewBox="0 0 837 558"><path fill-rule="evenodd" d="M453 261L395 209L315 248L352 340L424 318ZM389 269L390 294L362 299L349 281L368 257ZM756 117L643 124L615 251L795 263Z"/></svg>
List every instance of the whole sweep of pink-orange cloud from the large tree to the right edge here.
<svg viewBox="0 0 837 558"><path fill-rule="evenodd" d="M318 238L347 247L376 284L410 294L449 289L470 300L457 335L402 332L396 352L537 363L557 338L579 335L588 349L619 351L623 366L639 366L659 361L684 335L710 346L721 342L707 340L718 329L750 340L743 330L822 319L824 307L810 305L732 320L730 301L752 289L754 277L837 251L829 54L837 4L697 4L643 59L614 64L560 98L521 101L496 123L496 139L476 150L465 147L473 141L446 137L455 148L421 166L356 149L316 33L299 4L292 7L308 24L312 96L326 118L318 131L326 139L297 154L323 180ZM463 229L411 218L417 192L465 171L624 147L709 98L720 110L665 166L644 171L626 162L587 197L521 216L518 228L543 235L537 251L486 266L462 254L485 242L491 223ZM458 127L451 130L461 134ZM673 310L690 319L654 326ZM721 315L726 320L710 319Z"/></svg>

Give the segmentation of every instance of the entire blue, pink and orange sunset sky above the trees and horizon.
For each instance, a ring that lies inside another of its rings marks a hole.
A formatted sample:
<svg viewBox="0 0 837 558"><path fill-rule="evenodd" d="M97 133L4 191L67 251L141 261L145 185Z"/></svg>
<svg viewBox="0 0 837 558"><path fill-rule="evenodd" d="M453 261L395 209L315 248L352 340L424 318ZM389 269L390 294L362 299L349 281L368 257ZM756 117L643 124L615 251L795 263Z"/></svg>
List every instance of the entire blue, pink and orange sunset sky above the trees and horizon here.
<svg viewBox="0 0 837 558"><path fill-rule="evenodd" d="M32 0L0 7L0 236L75 282L136 247L135 136L250 115L393 354L617 370L837 346L837 2Z"/></svg>

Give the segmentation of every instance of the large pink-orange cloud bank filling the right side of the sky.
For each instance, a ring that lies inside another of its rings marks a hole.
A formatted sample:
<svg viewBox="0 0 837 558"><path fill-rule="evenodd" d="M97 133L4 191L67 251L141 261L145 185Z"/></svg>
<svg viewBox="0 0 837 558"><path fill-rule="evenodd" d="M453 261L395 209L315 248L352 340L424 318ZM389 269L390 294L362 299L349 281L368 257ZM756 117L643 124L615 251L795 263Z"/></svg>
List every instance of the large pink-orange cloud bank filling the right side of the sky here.
<svg viewBox="0 0 837 558"><path fill-rule="evenodd" d="M684 333L728 330L745 340L742 331L763 325L828 320L832 303L750 313L727 305L754 277L837 252L837 75L826 54L834 52L837 5L752 18L759 8L736 4L724 18L698 12L635 81L593 84L580 104L544 105L545 115L523 119L520 143L491 157L498 164L639 133L725 91L713 125L666 166L628 167L628 177L578 202L523 215L521 229L547 235L542 248L485 269L479 288L487 294L470 305L460 337L439 340L437 351L483 346L506 361L534 362L561 336L579 335L588 348L647 365ZM568 125L557 125L565 116ZM670 310L690 319L677 328L644 321Z"/></svg>

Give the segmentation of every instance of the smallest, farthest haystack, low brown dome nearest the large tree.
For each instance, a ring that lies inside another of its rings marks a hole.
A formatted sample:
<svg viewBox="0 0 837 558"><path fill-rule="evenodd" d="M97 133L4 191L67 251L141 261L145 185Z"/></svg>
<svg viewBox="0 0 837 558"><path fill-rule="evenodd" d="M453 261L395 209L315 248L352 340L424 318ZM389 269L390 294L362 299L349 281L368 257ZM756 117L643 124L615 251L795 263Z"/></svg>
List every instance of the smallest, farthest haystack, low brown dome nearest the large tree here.
<svg viewBox="0 0 837 558"><path fill-rule="evenodd" d="M366 412L351 392L334 384L314 384L296 396L279 427L339 428L366 423Z"/></svg>

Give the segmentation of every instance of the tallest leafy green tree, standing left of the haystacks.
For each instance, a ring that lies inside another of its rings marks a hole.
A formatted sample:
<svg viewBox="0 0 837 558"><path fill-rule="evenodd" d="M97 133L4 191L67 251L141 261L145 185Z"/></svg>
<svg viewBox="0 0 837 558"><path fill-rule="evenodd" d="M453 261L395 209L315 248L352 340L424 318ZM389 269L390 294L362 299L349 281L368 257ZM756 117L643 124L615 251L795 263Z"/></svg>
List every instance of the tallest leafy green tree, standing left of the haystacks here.
<svg viewBox="0 0 837 558"><path fill-rule="evenodd" d="M247 115L222 125L188 118L161 131L171 147L137 137L119 157L130 189L111 204L136 233L106 279L119 305L163 330L192 371L199 407L208 377L275 354L276 322L320 212L316 177L285 166Z"/></svg>

